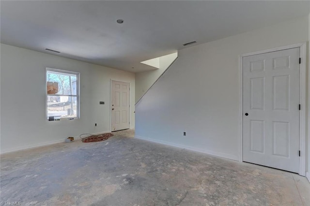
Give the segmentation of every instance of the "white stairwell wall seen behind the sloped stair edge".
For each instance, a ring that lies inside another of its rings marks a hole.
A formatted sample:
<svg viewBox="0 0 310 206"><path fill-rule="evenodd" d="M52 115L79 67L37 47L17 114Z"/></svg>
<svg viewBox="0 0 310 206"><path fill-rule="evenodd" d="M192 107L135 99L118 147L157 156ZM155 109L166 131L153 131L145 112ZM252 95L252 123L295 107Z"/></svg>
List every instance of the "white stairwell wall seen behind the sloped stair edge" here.
<svg viewBox="0 0 310 206"><path fill-rule="evenodd" d="M154 84L158 77L170 66L171 62L178 57L178 53L165 55L158 59L159 69L136 73L136 102Z"/></svg>

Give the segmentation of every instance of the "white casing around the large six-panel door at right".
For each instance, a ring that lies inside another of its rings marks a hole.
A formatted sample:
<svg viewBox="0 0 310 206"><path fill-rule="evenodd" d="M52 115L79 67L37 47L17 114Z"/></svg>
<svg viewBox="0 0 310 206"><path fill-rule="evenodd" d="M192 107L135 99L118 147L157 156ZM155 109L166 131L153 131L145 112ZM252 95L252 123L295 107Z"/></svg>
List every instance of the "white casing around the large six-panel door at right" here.
<svg viewBox="0 0 310 206"><path fill-rule="evenodd" d="M299 175L306 176L306 46L298 43L239 55L239 162L243 162L243 58L251 55L274 52L284 49L300 48L301 63L299 64Z"/></svg>

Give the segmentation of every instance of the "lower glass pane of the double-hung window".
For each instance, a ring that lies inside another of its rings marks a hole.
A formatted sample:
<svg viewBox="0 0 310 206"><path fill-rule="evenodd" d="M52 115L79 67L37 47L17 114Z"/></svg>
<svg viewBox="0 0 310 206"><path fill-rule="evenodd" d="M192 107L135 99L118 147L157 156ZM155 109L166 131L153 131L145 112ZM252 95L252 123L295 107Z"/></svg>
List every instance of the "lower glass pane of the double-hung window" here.
<svg viewBox="0 0 310 206"><path fill-rule="evenodd" d="M77 97L71 96L47 96L47 118L77 117Z"/></svg>

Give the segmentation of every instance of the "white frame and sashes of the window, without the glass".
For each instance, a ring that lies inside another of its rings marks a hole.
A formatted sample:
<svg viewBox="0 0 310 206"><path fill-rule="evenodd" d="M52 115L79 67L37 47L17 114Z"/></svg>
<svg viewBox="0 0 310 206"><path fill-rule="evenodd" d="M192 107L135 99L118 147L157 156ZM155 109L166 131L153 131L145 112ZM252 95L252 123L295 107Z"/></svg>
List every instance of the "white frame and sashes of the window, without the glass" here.
<svg viewBox="0 0 310 206"><path fill-rule="evenodd" d="M59 72L63 74L74 74L77 75L77 94L76 95L70 95L70 94L47 94L47 72ZM67 70L60 70L60 69L53 69L47 67L45 70L45 112L46 112L46 120L48 121L48 114L47 114L47 97L48 96L69 96L69 97L76 97L77 98L77 117L70 117L70 118L59 118L59 120L72 120L72 119L79 119L80 118L80 73L79 72L73 72L73 71L67 71ZM57 119L58 120L58 119Z"/></svg>

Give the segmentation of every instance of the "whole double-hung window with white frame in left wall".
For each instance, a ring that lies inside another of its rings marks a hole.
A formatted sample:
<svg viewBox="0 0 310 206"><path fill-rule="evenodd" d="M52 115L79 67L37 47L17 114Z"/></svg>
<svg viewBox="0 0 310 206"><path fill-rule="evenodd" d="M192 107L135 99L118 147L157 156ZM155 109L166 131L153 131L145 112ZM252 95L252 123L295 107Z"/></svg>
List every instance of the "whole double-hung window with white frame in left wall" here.
<svg viewBox="0 0 310 206"><path fill-rule="evenodd" d="M47 119L79 118L79 73L46 70Z"/></svg>

